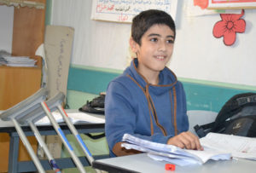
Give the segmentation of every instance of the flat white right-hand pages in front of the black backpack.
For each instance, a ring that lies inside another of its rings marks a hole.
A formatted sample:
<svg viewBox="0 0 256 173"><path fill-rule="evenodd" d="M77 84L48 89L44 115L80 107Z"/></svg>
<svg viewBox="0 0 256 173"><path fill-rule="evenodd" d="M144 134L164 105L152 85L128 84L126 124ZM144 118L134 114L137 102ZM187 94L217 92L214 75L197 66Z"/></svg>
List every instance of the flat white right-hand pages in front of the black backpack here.
<svg viewBox="0 0 256 173"><path fill-rule="evenodd" d="M229 152L232 157L256 160L256 138L209 133L200 141L203 147Z"/></svg>

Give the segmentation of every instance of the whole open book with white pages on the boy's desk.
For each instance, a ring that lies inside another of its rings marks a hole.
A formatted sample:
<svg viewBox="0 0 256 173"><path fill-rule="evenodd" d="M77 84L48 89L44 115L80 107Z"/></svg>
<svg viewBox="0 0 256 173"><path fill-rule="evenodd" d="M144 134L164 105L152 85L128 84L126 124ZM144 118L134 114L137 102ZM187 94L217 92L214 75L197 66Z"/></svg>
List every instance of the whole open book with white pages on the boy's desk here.
<svg viewBox="0 0 256 173"><path fill-rule="evenodd" d="M122 147L135 149L157 160L166 160L178 165L204 164L209 159L234 158L256 160L256 138L209 133L200 139L204 151L187 150L172 145L142 140L125 134Z"/></svg>

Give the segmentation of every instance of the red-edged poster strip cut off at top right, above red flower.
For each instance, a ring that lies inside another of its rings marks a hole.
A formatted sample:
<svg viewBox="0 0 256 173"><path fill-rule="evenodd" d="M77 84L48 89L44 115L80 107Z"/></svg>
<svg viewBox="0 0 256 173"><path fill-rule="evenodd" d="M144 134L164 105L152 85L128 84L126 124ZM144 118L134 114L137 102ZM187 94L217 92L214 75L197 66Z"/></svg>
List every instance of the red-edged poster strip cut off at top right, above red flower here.
<svg viewBox="0 0 256 173"><path fill-rule="evenodd" d="M256 9L256 0L201 0L208 1L207 9Z"/></svg>

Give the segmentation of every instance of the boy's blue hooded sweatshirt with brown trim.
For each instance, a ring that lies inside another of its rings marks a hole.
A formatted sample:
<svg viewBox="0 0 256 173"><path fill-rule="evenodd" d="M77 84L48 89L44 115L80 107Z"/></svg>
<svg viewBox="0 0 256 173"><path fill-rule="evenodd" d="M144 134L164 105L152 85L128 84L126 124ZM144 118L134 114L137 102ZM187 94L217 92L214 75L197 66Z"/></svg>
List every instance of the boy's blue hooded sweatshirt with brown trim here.
<svg viewBox="0 0 256 173"><path fill-rule="evenodd" d="M165 67L159 84L148 84L137 71L137 59L108 84L105 98L105 132L111 157L113 147L125 133L141 139L167 143L189 129L183 85Z"/></svg>

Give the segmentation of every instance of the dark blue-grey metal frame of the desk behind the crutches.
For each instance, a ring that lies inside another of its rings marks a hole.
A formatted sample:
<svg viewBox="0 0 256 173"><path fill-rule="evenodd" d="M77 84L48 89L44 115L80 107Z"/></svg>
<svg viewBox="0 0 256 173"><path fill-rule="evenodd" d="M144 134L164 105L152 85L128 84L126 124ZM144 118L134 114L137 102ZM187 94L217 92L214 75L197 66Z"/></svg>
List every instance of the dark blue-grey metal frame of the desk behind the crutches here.
<svg viewBox="0 0 256 173"><path fill-rule="evenodd" d="M60 124L60 126L64 134L71 134L71 131L68 129L66 124ZM79 131L79 134L104 133L104 126L105 124L75 124L75 128ZM37 127L41 136L57 135L52 125L39 125ZM22 130L24 130L26 136L34 136L29 126L22 126ZM33 164L32 160L18 161L20 137L15 130L15 127L9 124L9 122L0 121L0 133L8 133L10 136L9 173L36 171L36 166ZM93 157L94 159L104 159L108 158L108 155L97 155ZM79 159L84 166L90 165L85 157L79 157ZM60 169L76 167L75 164L73 164L73 160L71 158L55 159L55 161ZM51 170L47 159L41 159L40 162L43 165L44 170Z"/></svg>

